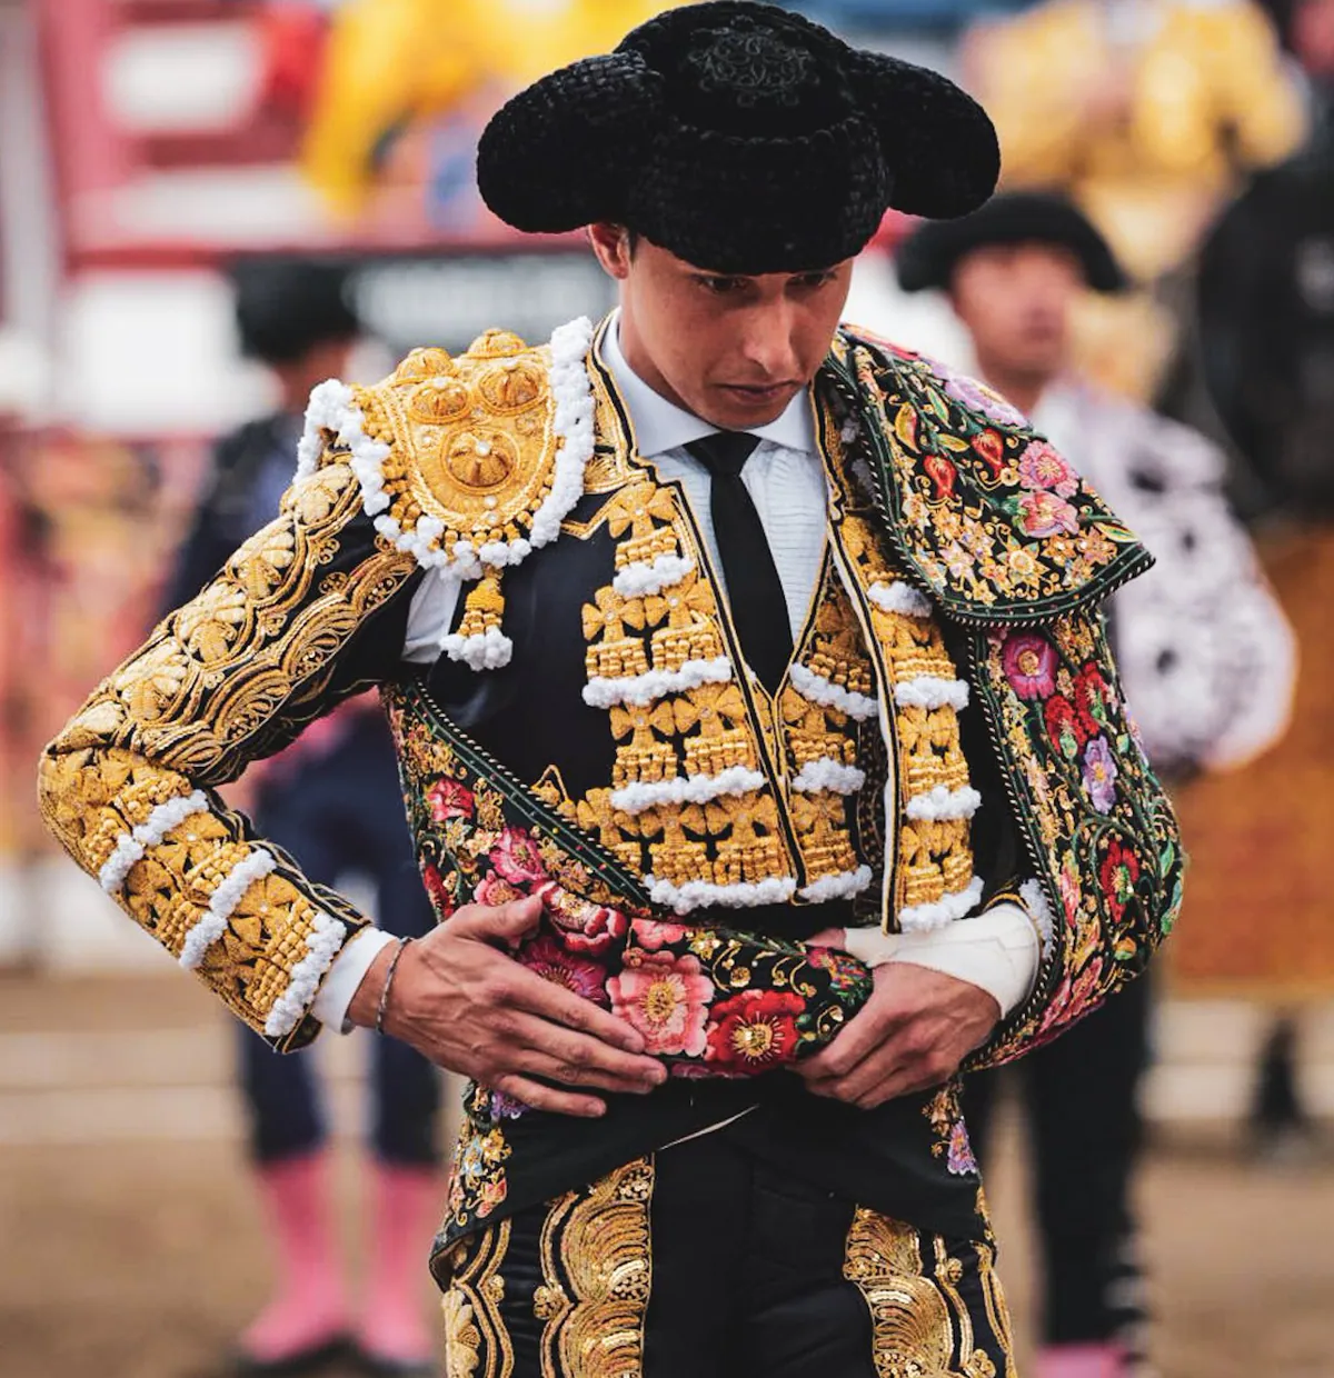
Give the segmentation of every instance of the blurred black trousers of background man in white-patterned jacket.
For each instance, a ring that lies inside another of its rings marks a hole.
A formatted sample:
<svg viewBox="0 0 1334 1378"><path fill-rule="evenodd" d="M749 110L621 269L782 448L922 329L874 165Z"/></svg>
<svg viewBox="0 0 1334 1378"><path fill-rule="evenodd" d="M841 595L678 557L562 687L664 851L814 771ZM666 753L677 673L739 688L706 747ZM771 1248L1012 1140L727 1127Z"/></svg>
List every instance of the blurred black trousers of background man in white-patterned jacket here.
<svg viewBox="0 0 1334 1378"><path fill-rule="evenodd" d="M985 1162L999 1079L1013 1072L1032 1164L1049 1345L1127 1341L1142 1327L1131 1175L1142 1138L1151 981L1140 977L1013 1068L970 1076L969 1137Z"/></svg>

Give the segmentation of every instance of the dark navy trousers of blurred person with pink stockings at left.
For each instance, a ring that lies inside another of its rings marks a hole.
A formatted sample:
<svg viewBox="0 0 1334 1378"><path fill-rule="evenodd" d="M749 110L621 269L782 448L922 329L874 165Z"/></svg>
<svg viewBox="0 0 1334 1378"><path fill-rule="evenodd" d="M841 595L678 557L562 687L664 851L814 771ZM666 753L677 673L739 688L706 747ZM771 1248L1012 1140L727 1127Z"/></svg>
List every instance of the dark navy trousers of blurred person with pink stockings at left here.
<svg viewBox="0 0 1334 1378"><path fill-rule="evenodd" d="M327 757L270 787L256 809L256 825L320 885L334 885L349 871L368 875L386 932L419 937L434 926L383 722L356 723ZM271 1163L313 1152L327 1133L314 1049L274 1053L245 1025L238 1024L237 1032L254 1158ZM437 1166L440 1073L398 1039L375 1039L371 1057L376 1158L405 1167Z"/></svg>

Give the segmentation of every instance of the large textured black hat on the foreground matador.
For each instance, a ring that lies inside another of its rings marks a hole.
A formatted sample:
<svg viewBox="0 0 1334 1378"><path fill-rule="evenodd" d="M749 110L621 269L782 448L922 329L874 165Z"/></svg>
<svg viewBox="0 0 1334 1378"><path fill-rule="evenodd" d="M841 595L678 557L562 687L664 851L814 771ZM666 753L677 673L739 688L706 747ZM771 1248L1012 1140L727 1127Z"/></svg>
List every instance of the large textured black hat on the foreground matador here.
<svg viewBox="0 0 1334 1378"><path fill-rule="evenodd" d="M610 220L697 267L759 274L850 258L889 207L965 215L999 165L987 113L936 72L712 0L521 91L482 134L477 183L520 230Z"/></svg>

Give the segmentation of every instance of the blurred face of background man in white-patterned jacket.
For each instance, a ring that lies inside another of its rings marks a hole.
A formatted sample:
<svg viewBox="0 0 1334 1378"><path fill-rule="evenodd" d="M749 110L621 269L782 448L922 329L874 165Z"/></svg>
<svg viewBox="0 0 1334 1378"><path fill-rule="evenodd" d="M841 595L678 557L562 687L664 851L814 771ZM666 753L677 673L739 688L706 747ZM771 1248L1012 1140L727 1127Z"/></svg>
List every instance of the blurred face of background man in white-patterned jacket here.
<svg viewBox="0 0 1334 1378"><path fill-rule="evenodd" d="M1083 273L1069 249L988 244L955 266L950 299L980 362L1045 382L1065 367L1071 306L1080 291Z"/></svg>

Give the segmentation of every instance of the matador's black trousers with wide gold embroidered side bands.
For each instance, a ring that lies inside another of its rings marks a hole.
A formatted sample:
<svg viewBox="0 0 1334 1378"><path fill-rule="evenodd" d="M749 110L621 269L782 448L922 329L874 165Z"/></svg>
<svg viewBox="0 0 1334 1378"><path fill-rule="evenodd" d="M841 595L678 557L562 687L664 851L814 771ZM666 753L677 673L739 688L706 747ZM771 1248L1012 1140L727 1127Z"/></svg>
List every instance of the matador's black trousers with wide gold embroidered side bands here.
<svg viewBox="0 0 1334 1378"><path fill-rule="evenodd" d="M1013 1372L989 1240L813 1191L726 1130L467 1236L451 1271L447 1367L474 1378Z"/></svg>

